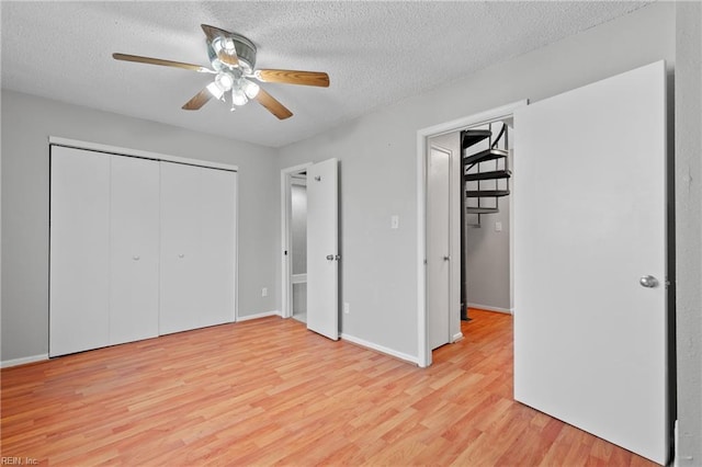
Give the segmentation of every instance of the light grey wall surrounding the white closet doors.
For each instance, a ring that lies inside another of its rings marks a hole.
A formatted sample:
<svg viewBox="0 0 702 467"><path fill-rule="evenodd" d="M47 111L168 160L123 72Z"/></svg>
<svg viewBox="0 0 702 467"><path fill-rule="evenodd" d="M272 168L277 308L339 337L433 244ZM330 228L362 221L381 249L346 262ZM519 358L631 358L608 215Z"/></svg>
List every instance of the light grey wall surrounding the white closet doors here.
<svg viewBox="0 0 702 467"><path fill-rule="evenodd" d="M239 167L239 316L276 309L276 150L2 91L3 362L48 351L48 136Z"/></svg>

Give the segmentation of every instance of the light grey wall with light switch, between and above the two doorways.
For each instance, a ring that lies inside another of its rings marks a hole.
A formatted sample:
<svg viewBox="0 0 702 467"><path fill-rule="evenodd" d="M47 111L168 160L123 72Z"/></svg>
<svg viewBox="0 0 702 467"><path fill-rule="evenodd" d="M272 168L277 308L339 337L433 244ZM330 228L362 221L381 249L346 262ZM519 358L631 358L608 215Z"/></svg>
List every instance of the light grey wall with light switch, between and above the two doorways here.
<svg viewBox="0 0 702 467"><path fill-rule="evenodd" d="M673 3L639 9L283 148L281 169L340 160L341 294L351 304L341 316L343 333L418 355L418 129L537 101L661 58L672 67ZM397 230L389 228L393 214L399 215Z"/></svg>

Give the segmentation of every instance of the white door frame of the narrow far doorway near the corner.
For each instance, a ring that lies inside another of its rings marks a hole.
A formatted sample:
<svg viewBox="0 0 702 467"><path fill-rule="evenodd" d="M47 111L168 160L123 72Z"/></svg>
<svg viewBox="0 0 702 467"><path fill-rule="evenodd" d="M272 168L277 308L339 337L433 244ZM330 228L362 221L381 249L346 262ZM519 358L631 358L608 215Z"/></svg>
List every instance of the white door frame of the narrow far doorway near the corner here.
<svg viewBox="0 0 702 467"><path fill-rule="evenodd" d="M292 262L290 261L291 239L291 185L293 178L307 170L312 162L301 163L281 170L281 316L293 316L292 299Z"/></svg>

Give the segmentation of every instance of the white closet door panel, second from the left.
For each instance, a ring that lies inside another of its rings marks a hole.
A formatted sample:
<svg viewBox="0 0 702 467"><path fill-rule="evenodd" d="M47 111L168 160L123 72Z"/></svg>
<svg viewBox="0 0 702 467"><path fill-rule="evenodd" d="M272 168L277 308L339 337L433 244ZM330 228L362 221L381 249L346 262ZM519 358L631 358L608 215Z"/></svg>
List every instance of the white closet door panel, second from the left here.
<svg viewBox="0 0 702 467"><path fill-rule="evenodd" d="M158 335L159 163L113 156L110 343Z"/></svg>

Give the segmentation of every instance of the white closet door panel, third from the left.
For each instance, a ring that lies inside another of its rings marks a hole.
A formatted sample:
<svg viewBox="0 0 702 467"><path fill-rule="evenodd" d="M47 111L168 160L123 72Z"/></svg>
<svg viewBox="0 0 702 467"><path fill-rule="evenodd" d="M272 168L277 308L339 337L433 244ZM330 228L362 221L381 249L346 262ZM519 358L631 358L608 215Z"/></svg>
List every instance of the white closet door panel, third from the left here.
<svg viewBox="0 0 702 467"><path fill-rule="evenodd" d="M159 333L199 327L200 171L161 162Z"/></svg>

